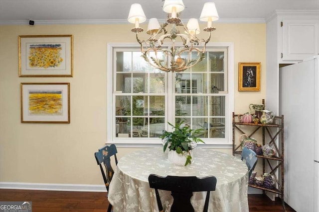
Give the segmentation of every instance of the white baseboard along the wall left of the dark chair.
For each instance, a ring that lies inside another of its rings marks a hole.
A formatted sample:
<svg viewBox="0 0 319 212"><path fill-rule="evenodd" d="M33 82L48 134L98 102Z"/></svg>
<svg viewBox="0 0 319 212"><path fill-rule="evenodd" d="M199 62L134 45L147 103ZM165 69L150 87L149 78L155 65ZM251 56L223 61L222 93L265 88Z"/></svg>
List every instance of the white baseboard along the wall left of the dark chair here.
<svg viewBox="0 0 319 212"><path fill-rule="evenodd" d="M0 182L0 189L106 192L104 185Z"/></svg>

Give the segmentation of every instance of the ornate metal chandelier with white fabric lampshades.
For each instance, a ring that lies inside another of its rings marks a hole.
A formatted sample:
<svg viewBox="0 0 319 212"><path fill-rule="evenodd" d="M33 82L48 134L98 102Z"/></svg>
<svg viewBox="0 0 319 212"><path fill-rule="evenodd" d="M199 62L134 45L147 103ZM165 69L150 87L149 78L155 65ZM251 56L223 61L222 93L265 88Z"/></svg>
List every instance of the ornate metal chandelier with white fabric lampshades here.
<svg viewBox="0 0 319 212"><path fill-rule="evenodd" d="M190 18L186 26L183 24L180 12L184 8L182 0L165 0L163 11L166 12L166 22L160 25L157 18L151 18L147 29L150 38L140 40L139 33L143 32L140 23L145 22L147 18L141 4L131 5L128 21L135 24L131 31L136 33L136 39L141 45L142 57L156 69L181 72L195 66L205 58L206 44L210 40L211 32L216 29L212 27L212 21L219 18L215 3L206 2L199 18L207 22L207 27L204 28L204 31L209 33L207 40L197 38L200 32L197 19ZM175 47L176 41L181 42L182 46Z"/></svg>

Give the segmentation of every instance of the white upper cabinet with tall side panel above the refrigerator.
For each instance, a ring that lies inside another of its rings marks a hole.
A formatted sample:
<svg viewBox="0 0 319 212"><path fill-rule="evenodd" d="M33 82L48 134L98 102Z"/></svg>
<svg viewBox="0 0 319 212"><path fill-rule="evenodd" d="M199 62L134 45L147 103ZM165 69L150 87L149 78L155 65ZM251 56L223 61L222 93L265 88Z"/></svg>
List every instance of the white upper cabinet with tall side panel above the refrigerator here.
<svg viewBox="0 0 319 212"><path fill-rule="evenodd" d="M319 10L276 10L266 23L266 104L279 114L279 66L319 54Z"/></svg>

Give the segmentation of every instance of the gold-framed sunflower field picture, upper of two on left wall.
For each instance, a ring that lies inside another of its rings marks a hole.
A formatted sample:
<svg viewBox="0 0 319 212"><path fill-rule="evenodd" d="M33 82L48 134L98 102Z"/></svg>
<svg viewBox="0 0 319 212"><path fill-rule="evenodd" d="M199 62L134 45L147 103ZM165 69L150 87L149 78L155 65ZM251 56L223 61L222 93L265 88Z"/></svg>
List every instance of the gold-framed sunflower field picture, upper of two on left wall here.
<svg viewBox="0 0 319 212"><path fill-rule="evenodd" d="M73 76L72 35L20 35L19 76Z"/></svg>

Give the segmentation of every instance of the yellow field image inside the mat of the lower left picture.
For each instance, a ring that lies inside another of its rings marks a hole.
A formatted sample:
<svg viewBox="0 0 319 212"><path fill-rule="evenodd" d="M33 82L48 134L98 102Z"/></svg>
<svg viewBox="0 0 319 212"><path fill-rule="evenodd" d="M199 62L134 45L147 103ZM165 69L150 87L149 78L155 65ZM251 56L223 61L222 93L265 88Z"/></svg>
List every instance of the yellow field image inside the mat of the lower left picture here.
<svg viewBox="0 0 319 212"><path fill-rule="evenodd" d="M29 115L62 113L62 91L29 91Z"/></svg>

